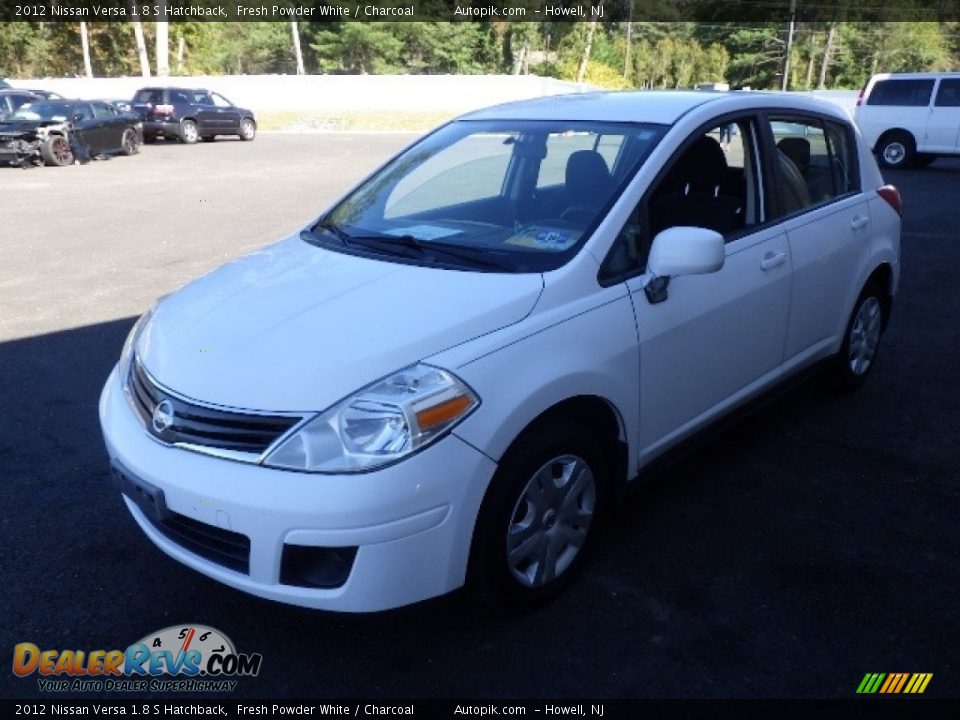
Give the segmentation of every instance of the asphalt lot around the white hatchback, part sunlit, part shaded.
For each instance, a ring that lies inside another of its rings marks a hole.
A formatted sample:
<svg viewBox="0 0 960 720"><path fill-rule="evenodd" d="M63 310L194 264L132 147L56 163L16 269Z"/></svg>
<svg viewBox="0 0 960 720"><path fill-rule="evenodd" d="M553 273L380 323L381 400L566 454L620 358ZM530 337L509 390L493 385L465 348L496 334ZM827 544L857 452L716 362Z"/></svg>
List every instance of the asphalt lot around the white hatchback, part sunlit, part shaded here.
<svg viewBox="0 0 960 720"><path fill-rule="evenodd" d="M960 696L960 160L887 173L903 276L866 385L807 382L687 455L544 608L455 593L310 611L154 548L108 481L96 415L134 317L412 139L263 134L0 168L0 650L201 623L263 656L236 698L846 698L867 672L931 672L927 696ZM49 693L7 670L0 697Z"/></svg>

